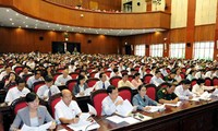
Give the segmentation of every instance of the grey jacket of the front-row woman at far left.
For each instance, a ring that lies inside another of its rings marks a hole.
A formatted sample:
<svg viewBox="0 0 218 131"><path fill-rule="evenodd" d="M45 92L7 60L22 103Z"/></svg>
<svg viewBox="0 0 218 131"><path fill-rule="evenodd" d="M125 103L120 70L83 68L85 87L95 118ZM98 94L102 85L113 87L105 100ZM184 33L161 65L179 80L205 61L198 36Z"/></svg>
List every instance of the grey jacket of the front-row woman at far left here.
<svg viewBox="0 0 218 131"><path fill-rule="evenodd" d="M50 116L45 106L38 106L37 115L38 115L37 117L39 126L44 124L45 122L50 122L50 121L55 122L53 118ZM24 123L31 127L31 116L28 106L17 111L17 115L13 123L11 124L10 131L17 130Z"/></svg>

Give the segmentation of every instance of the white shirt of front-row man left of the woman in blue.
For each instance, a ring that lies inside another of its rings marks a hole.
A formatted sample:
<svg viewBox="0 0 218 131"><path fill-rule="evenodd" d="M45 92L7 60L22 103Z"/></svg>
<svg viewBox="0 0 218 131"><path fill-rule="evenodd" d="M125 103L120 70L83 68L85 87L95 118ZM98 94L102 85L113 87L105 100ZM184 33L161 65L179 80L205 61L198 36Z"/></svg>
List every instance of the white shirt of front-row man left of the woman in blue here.
<svg viewBox="0 0 218 131"><path fill-rule="evenodd" d="M102 103L101 103L102 104L101 115L102 116L104 115L110 116L113 112L116 112L116 110L117 110L116 109L117 108L116 103L119 102L119 100L123 100L122 97L118 96L114 103L111 100L110 96L105 97Z"/></svg>

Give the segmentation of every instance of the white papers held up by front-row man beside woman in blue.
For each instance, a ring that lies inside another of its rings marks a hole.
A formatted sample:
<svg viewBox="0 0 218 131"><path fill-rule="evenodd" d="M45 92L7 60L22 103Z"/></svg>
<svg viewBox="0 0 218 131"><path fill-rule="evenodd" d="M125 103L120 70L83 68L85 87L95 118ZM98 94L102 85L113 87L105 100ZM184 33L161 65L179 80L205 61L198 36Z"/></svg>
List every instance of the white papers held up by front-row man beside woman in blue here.
<svg viewBox="0 0 218 131"><path fill-rule="evenodd" d="M122 105L118 105L116 109L118 115L128 117L134 108L131 105L131 103L128 99L125 99L123 100Z"/></svg>

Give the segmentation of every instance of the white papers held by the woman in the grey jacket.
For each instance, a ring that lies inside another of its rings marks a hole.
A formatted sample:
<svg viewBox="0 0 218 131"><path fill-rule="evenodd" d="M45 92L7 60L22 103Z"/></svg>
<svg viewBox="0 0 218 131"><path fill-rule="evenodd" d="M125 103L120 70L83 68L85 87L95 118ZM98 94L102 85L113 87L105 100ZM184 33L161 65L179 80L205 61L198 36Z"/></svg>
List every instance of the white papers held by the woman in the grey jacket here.
<svg viewBox="0 0 218 131"><path fill-rule="evenodd" d="M21 130L22 131L47 131L47 129L49 129L51 124L52 124L52 121L47 122L39 127L28 127L26 124L23 124Z"/></svg>

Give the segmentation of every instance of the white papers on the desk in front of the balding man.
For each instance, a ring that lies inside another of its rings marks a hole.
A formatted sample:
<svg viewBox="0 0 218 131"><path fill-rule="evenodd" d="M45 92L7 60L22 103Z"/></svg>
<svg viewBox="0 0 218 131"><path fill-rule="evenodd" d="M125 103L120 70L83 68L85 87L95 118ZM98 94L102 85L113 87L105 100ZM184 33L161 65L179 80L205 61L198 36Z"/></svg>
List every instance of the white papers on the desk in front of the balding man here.
<svg viewBox="0 0 218 131"><path fill-rule="evenodd" d="M77 123L68 124L68 127L74 131L88 131L100 128L100 126L95 121L89 121L87 119L80 119Z"/></svg>

